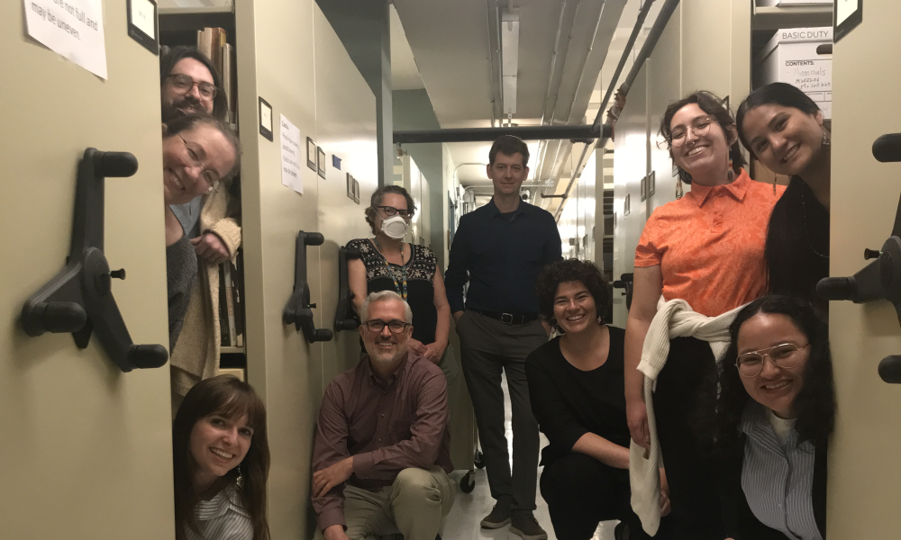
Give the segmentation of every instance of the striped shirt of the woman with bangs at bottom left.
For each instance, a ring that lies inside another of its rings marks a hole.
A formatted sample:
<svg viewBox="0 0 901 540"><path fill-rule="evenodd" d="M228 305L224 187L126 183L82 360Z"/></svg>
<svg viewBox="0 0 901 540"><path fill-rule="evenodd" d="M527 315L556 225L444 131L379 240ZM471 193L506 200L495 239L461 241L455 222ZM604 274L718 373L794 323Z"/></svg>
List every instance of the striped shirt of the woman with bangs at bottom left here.
<svg viewBox="0 0 901 540"><path fill-rule="evenodd" d="M188 540L253 540L250 514L241 506L233 483L213 499L198 502L194 519L200 536L185 527Z"/></svg>

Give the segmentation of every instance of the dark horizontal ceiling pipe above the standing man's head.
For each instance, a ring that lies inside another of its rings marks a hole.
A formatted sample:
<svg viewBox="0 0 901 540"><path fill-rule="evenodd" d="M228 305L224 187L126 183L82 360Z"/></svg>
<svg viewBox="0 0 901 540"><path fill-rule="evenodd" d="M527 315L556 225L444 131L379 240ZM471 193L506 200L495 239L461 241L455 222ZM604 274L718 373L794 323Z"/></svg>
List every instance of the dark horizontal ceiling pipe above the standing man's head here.
<svg viewBox="0 0 901 540"><path fill-rule="evenodd" d="M523 140L538 139L599 139L609 137L609 126L557 125L516 126L499 128L460 128L454 130L396 130L394 142L494 142L501 135L513 135Z"/></svg>

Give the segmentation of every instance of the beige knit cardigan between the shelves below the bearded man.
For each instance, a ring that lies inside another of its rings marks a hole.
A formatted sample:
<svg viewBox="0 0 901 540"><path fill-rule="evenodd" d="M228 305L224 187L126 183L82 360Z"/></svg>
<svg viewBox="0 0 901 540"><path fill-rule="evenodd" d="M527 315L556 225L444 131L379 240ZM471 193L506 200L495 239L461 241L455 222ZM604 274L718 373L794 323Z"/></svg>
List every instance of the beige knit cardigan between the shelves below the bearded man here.
<svg viewBox="0 0 901 540"><path fill-rule="evenodd" d="M222 238L232 258L241 247L241 225L227 215L234 215L237 202L222 184L213 194L205 196L200 211L202 234L214 232ZM203 379L219 371L221 332L219 329L219 266L197 259L197 279L191 288L185 324L171 352L170 369L172 392L184 396Z"/></svg>

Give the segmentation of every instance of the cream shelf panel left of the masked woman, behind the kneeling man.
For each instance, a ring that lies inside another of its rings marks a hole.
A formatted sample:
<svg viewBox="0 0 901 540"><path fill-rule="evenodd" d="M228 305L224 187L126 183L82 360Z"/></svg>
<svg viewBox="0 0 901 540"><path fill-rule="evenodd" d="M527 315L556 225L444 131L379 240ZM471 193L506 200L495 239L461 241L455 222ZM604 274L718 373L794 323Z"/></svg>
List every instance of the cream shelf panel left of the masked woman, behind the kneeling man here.
<svg viewBox="0 0 901 540"><path fill-rule="evenodd" d="M338 303L338 248L353 238L371 238L363 211L378 187L376 98L332 30L318 5L314 6L316 60L316 130L328 155L326 179L319 178L319 231L325 243L316 248L323 298L318 312L323 327L334 329ZM341 157L341 170L332 166ZM347 197L347 175L359 182L359 204ZM323 387L359 361L359 333L337 332L323 343ZM316 403L315 410L319 409Z"/></svg>

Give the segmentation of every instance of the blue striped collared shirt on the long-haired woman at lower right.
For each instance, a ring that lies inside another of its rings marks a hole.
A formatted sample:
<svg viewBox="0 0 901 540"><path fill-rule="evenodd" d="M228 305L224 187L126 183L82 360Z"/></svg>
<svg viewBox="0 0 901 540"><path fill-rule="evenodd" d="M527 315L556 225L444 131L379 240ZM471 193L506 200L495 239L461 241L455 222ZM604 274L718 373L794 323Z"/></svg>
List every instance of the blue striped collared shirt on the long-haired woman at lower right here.
<svg viewBox="0 0 901 540"><path fill-rule="evenodd" d="M797 444L792 428L779 443L766 410L751 401L742 417L747 435L742 462L742 491L760 523L796 540L823 540L816 526L811 490L814 445Z"/></svg>

